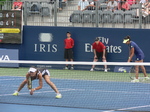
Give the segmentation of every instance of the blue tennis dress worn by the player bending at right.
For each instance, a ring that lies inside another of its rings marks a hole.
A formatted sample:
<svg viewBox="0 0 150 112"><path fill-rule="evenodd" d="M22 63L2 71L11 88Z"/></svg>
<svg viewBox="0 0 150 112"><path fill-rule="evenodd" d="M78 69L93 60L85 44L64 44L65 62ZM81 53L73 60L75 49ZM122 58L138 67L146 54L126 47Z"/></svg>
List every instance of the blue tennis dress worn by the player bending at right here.
<svg viewBox="0 0 150 112"><path fill-rule="evenodd" d="M130 49L134 48L134 54L136 55L136 60L143 60L144 59L144 53L143 51L140 49L140 47L133 41L130 42L129 44Z"/></svg>

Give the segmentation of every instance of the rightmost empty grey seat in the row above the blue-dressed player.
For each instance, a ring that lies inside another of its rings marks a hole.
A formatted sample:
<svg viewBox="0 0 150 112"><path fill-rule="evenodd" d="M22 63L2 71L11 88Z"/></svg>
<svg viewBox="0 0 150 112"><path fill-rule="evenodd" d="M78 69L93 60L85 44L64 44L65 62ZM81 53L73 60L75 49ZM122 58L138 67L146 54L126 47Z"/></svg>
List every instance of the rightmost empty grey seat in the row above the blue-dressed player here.
<svg viewBox="0 0 150 112"><path fill-rule="evenodd" d="M135 16L135 12L132 10L128 10L124 12L124 23L133 23L133 17Z"/></svg>

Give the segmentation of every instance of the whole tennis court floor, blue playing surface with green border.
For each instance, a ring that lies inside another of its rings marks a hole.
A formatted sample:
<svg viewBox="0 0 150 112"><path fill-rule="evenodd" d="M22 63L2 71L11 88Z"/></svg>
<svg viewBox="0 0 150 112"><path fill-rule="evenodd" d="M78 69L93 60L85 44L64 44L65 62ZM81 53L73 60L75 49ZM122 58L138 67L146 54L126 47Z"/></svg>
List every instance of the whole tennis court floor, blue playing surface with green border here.
<svg viewBox="0 0 150 112"><path fill-rule="evenodd" d="M0 70L0 105L3 108L23 106L26 111L28 107L40 111L44 107L44 111L54 109L58 112L150 110L149 81L131 83L128 73L50 69L51 80L63 95L62 99L55 99L54 91L45 82L43 88L35 91L34 95L29 95L27 87L24 87L19 96L12 96L25 79L28 68ZM37 80L33 81L33 87L37 86Z"/></svg>

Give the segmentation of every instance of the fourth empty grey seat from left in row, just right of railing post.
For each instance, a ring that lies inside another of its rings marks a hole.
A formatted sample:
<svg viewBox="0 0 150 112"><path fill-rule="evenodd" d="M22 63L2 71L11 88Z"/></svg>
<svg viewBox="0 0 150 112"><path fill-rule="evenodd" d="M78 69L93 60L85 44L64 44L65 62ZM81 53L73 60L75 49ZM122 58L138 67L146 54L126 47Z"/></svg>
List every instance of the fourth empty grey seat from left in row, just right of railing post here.
<svg viewBox="0 0 150 112"><path fill-rule="evenodd" d="M111 23L113 13L109 10L102 12L102 23Z"/></svg>

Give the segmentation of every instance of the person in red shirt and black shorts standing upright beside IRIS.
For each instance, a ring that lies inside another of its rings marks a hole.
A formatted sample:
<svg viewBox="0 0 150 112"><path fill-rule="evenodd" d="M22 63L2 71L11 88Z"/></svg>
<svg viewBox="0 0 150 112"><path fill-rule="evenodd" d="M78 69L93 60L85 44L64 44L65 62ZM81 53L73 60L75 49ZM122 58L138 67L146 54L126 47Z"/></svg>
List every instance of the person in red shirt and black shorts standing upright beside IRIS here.
<svg viewBox="0 0 150 112"><path fill-rule="evenodd" d="M74 47L74 40L71 38L71 33L67 32L67 38L64 40L64 44L65 44L65 52L64 52L64 58L66 59L66 61L72 61L73 62L73 51L72 48ZM68 64L66 65L65 69L69 69L68 68ZM74 69L73 64L71 65L70 69Z"/></svg>

